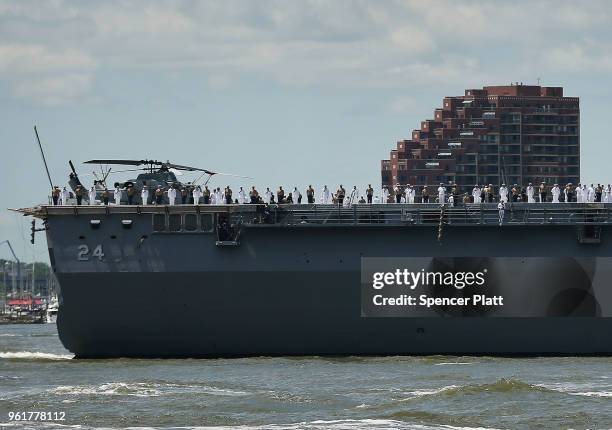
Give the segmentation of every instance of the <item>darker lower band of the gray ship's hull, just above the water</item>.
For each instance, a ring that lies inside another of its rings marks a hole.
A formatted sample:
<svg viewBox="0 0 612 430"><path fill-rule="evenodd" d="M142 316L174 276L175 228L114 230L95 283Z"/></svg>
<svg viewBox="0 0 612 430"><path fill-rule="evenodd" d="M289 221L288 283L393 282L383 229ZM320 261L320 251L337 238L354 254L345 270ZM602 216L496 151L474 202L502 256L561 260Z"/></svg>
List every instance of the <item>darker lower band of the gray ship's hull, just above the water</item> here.
<svg viewBox="0 0 612 430"><path fill-rule="evenodd" d="M612 352L611 318L366 319L358 276L296 275L67 276L60 339L82 358Z"/></svg>

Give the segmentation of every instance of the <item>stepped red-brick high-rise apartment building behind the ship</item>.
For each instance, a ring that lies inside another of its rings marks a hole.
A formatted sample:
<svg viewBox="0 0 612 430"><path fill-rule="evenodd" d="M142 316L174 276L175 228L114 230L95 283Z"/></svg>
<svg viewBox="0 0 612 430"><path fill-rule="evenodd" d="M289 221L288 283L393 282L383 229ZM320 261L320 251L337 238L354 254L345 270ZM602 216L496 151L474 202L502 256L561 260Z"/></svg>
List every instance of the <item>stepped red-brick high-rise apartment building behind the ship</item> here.
<svg viewBox="0 0 612 430"><path fill-rule="evenodd" d="M445 97L434 119L381 161L382 185L576 185L580 109L561 87L511 84Z"/></svg>

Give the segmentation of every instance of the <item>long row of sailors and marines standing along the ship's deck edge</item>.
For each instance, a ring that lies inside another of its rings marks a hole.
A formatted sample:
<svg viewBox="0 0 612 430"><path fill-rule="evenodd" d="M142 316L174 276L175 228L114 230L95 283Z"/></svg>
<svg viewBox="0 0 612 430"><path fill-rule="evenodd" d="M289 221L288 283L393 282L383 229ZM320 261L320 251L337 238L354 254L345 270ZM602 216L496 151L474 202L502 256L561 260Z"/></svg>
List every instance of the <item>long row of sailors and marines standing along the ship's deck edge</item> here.
<svg viewBox="0 0 612 430"><path fill-rule="evenodd" d="M266 188L263 193L260 193L255 186L252 186L248 192L240 187L237 193L227 186L224 189L220 187L210 189L207 185L201 186L170 186L167 188L158 185L149 189L147 185L143 185L140 190L140 198L136 198L138 191L133 184L126 187L120 187L118 184L115 189L96 189L92 186L86 190L82 185L77 185L74 193L66 187L60 189L54 187L51 192L53 205L70 205L76 200L77 205L83 204L86 201L90 205L114 203L120 205L127 202L132 204L301 204L302 202L313 204L336 204L341 206L350 206L352 204L380 204L380 203L438 203L451 204L458 206L460 204L480 204L480 203L509 203L509 202L527 202L527 203L612 203L612 187L597 184L594 186L586 184L578 184L577 186L567 184L565 187L559 187L554 184L549 187L545 183L534 186L529 183L526 187L521 187L514 184L511 187L502 184L500 187L489 185L475 185L471 194L459 191L457 185L446 186L441 183L438 187L422 186L413 187L411 185L395 185L394 187L383 187L380 195L375 194L372 185L364 190L363 193L353 186L347 191L342 185L332 192L327 185L323 186L319 193L315 191L312 185L309 185L305 190L305 199L303 194L297 187L293 191L286 192L280 186L276 192L270 188ZM126 197L124 199L124 196Z"/></svg>

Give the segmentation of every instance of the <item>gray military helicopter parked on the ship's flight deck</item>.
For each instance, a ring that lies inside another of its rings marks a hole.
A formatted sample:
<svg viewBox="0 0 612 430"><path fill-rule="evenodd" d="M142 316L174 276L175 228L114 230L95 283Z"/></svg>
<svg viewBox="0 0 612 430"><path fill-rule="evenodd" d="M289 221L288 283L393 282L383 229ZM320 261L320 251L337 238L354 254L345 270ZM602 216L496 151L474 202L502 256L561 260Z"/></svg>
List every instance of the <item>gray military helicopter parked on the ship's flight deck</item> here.
<svg viewBox="0 0 612 430"><path fill-rule="evenodd" d="M76 190L76 187L78 185L81 185L85 189L85 192L87 192L88 187L85 187L81 183L79 176L76 172L76 169L74 168L74 165L72 164L72 161L69 161L69 164L72 170L69 176L69 181L68 181L68 183L70 184L70 187L74 191ZM186 189L189 195L191 195L191 191L196 186L200 185L198 184L198 182L204 176L207 176L207 178L204 181L204 183L201 184L202 187L208 184L208 181L210 181L210 179L214 175L224 175L224 176L233 176L233 177L238 177L238 178L252 179L248 176L233 175L230 173L213 172L213 171L202 169L199 167L191 167L191 166L184 166L181 164L174 164L174 163L171 163L170 161L161 162L157 160L96 159L96 160L85 161L84 164L100 165L100 172L92 173L96 178L94 180L93 186L95 187L97 197L100 198L101 194L105 190L108 190L112 193L115 187L119 187L124 191L122 193L123 197L121 199L122 204L127 203L127 192L126 191L130 188L133 188L134 190L132 204L142 204L141 191L144 186L146 186L147 189L149 190L149 198L147 201L148 204L150 204L152 200L154 199L154 191L157 189L158 186L160 186L164 190L163 203L167 204L168 203L167 191L170 188L174 188L178 192L180 192L180 190L182 189ZM114 171L112 170L111 167L108 167L109 165L134 166L135 168ZM107 182L107 180L111 174L125 173L125 172L142 172L142 173L140 173L135 179L129 179L125 182L113 182L112 186L109 186L109 183ZM201 174L193 181L181 182L177 179L177 176L182 176L183 172L199 172Z"/></svg>

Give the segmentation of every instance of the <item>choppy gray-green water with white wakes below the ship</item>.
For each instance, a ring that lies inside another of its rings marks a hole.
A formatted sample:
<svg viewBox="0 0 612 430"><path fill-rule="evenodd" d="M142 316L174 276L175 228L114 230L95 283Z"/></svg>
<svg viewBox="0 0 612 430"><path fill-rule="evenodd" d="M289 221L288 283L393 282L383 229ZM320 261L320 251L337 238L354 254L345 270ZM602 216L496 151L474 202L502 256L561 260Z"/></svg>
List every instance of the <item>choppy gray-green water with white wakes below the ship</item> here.
<svg viewBox="0 0 612 430"><path fill-rule="evenodd" d="M54 325L0 326L0 427L612 428L611 358L71 357Z"/></svg>

